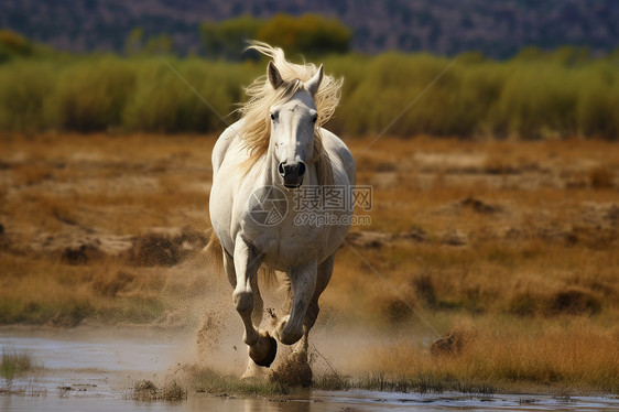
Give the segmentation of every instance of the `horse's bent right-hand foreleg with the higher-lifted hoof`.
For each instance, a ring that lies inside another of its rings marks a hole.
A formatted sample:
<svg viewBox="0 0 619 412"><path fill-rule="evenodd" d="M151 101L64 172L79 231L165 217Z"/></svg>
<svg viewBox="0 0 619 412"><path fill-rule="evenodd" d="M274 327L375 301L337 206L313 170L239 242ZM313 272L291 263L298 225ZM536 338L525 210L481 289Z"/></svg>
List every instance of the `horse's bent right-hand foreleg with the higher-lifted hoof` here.
<svg viewBox="0 0 619 412"><path fill-rule="evenodd" d="M292 286L292 310L275 328L278 339L284 345L292 345L303 336L305 313L316 288L316 261L291 269L289 273Z"/></svg>

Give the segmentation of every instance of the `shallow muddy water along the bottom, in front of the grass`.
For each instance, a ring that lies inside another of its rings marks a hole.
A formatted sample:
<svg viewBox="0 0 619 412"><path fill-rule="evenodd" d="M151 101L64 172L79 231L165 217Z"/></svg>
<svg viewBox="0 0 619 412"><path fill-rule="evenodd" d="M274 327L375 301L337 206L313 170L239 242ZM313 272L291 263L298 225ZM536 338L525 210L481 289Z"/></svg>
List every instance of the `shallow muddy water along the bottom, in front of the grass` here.
<svg viewBox="0 0 619 412"><path fill-rule="evenodd" d="M373 391L308 391L281 398L189 394L184 402L129 400L138 379L161 381L195 356L192 337L151 329L0 332L2 349L30 353L45 371L15 380L24 394L0 397L1 411L611 411L612 397L419 394ZM6 382L1 382L6 387Z"/></svg>

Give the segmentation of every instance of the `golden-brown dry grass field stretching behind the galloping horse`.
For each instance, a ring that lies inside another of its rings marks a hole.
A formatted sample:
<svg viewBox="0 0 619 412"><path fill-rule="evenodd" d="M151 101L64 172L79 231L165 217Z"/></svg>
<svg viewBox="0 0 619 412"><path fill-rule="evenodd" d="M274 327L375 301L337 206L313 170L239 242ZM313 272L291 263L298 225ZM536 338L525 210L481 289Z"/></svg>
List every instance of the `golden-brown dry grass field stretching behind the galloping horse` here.
<svg viewBox="0 0 619 412"><path fill-rule="evenodd" d="M214 137L0 140L0 323L197 325ZM619 392L612 143L345 140L371 225L341 247L323 318L380 337L346 384Z"/></svg>

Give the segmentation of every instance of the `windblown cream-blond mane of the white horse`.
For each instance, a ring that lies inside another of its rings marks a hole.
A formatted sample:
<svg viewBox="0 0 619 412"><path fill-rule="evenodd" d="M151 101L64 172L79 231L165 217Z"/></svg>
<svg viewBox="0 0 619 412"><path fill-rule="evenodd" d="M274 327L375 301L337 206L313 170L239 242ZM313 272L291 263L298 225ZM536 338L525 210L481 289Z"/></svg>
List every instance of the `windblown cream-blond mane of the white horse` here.
<svg viewBox="0 0 619 412"><path fill-rule="evenodd" d="M303 89L305 82L317 72L316 66L312 63L301 65L289 62L281 48L272 47L267 43L250 42L248 50L250 48L271 57L284 82L275 90L264 75L246 88L249 100L238 110L243 120L240 134L250 152L247 170L251 169L269 149L271 140L270 107L290 99L296 91ZM332 76L324 75L321 87L314 95L318 120L314 128L314 156L307 163L316 164L321 185L333 184L333 169L328 154L323 148L321 127L330 119L339 102L341 83L341 79L336 80Z"/></svg>

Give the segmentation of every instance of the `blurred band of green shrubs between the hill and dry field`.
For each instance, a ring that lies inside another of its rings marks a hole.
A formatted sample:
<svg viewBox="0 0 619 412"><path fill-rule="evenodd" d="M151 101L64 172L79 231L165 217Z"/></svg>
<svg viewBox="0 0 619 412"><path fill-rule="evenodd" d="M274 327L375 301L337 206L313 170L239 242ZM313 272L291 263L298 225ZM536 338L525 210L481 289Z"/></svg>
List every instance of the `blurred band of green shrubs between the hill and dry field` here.
<svg viewBox="0 0 619 412"><path fill-rule="evenodd" d="M345 79L327 128L352 135L617 139L615 61L560 52L523 53L510 62L470 53L455 63L402 53L316 59ZM219 132L226 126L219 116L227 123L236 119L229 113L246 99L242 87L263 75L264 65L197 57L14 58L0 64L0 129Z"/></svg>

